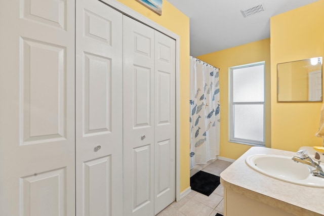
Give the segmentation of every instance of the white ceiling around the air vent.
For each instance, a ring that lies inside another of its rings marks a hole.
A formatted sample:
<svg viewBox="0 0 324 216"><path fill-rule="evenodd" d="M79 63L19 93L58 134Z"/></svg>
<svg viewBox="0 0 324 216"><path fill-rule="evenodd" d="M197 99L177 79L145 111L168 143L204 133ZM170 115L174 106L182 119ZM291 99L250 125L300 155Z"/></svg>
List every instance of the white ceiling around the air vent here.
<svg viewBox="0 0 324 216"><path fill-rule="evenodd" d="M318 0L168 0L190 19L190 55L200 56L270 37L270 17ZM244 18L241 10L263 3ZM307 16L307 14L305 14Z"/></svg>

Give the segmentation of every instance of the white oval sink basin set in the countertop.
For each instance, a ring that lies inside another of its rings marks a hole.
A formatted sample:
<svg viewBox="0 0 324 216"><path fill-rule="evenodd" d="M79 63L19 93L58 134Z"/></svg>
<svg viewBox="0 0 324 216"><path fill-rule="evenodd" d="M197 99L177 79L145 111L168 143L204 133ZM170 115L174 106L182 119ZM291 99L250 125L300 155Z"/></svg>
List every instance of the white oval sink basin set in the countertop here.
<svg viewBox="0 0 324 216"><path fill-rule="evenodd" d="M281 155L257 154L247 157L246 163L254 170L281 181L324 188L324 178L314 177L311 166L297 163L292 157Z"/></svg>

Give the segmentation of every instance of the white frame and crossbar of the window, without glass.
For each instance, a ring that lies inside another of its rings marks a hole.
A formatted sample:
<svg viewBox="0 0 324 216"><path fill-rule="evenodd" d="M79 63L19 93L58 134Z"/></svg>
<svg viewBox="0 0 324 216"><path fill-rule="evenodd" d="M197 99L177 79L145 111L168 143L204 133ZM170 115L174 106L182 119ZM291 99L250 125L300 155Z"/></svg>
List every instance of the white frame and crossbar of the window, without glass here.
<svg viewBox="0 0 324 216"><path fill-rule="evenodd" d="M239 68L246 68L246 67L253 67L263 65L263 94L264 94L264 101L263 102L233 102L233 70L239 69ZM228 68L228 91L229 91L229 112L228 112L228 138L231 143L239 143L239 144L245 144L245 145L252 145L252 146L265 146L265 61L251 63L251 64L245 64L245 65L238 65ZM234 105L251 105L251 104L257 104L257 105L263 105L263 141L257 141L257 140L248 140L248 139L240 139L240 138L234 138L234 113L233 113L233 107Z"/></svg>

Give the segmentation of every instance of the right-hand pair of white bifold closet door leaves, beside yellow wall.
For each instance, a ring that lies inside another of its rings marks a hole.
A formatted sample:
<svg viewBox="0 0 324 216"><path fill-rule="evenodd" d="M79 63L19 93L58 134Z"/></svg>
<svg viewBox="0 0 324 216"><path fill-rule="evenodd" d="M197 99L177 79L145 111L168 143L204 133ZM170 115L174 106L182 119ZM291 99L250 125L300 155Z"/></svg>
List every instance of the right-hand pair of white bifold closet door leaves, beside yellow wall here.
<svg viewBox="0 0 324 216"><path fill-rule="evenodd" d="M175 200L175 40L124 16L124 215Z"/></svg>

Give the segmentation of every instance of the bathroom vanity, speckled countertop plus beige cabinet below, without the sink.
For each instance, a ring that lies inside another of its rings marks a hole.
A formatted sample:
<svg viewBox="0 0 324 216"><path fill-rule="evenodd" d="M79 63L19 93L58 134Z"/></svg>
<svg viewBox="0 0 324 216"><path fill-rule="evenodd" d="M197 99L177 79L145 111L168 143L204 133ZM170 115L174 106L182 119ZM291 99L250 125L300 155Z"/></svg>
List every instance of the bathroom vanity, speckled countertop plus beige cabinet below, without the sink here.
<svg viewBox="0 0 324 216"><path fill-rule="evenodd" d="M324 200L324 185L306 187L265 176L246 164L246 158L256 154L293 157L295 152L252 147L227 167L220 175L224 216L324 215L323 205L318 201Z"/></svg>

